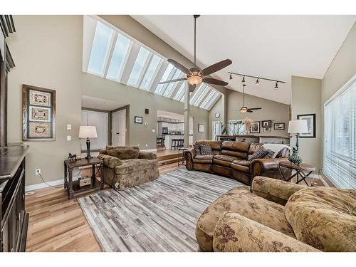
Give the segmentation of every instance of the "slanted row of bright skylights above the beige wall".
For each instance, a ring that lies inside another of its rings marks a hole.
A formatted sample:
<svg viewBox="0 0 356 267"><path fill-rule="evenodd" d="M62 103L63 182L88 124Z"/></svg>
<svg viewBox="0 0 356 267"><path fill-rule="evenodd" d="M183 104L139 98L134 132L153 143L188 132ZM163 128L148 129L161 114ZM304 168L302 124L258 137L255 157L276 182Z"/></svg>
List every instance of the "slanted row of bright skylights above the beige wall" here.
<svg viewBox="0 0 356 267"><path fill-rule="evenodd" d="M159 84L185 75L166 58L91 16L84 16L84 27L83 51L84 46L91 47L88 55L83 52L85 72L184 102L187 81ZM85 57L89 57L88 66ZM220 96L221 93L210 85L201 83L191 93L190 104L210 110Z"/></svg>

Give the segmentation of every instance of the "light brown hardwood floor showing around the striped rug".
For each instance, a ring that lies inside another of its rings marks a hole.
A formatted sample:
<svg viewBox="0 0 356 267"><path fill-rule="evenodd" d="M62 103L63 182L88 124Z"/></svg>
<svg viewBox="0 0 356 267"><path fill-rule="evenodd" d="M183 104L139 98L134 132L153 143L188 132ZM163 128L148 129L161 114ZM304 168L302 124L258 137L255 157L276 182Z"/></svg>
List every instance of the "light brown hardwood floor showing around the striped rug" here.
<svg viewBox="0 0 356 267"><path fill-rule="evenodd" d="M159 167L164 174L177 163ZM105 189L109 187L106 186ZM47 187L26 196L30 214L26 251L101 251L76 199L63 187Z"/></svg>

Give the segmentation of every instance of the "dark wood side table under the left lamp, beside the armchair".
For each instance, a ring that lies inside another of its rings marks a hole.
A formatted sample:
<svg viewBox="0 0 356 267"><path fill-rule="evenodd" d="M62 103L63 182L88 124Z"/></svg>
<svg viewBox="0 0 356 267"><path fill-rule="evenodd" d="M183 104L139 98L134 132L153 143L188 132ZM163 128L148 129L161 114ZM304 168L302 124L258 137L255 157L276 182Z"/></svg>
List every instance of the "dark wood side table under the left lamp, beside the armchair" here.
<svg viewBox="0 0 356 267"><path fill-rule="evenodd" d="M92 167L91 183L84 187L79 187L79 181L73 181L73 169L76 167ZM98 171L95 172L95 166L99 167ZM100 181L96 179L96 174L100 172ZM68 189L68 199L73 199L73 197L78 194L83 194L83 192L93 192L95 190L104 189L104 172L103 172L103 160L93 157L91 159L78 159L75 161L70 161L66 159L64 161L64 188Z"/></svg>

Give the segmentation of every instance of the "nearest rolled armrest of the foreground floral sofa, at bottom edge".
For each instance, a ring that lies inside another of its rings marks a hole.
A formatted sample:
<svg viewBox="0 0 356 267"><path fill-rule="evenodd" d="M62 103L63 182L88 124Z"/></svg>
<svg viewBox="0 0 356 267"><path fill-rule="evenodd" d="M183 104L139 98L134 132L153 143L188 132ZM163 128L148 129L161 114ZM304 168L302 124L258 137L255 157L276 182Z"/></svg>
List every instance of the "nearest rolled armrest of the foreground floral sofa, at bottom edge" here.
<svg viewBox="0 0 356 267"><path fill-rule="evenodd" d="M213 249L216 252L320 252L293 237L229 212L216 224Z"/></svg>

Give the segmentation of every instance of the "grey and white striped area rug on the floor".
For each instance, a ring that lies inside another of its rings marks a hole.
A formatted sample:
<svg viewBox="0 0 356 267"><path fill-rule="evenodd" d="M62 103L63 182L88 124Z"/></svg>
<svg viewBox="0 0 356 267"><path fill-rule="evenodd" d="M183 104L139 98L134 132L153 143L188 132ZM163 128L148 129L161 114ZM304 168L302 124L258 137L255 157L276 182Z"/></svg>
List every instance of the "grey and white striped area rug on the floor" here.
<svg viewBox="0 0 356 267"><path fill-rule="evenodd" d="M197 251L195 226L234 179L177 169L155 181L78 199L103 251Z"/></svg>

